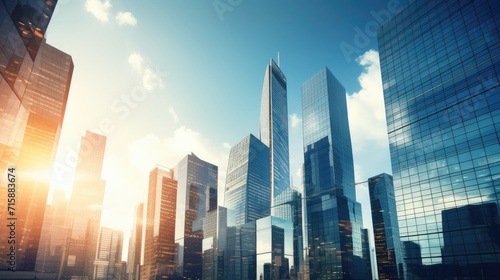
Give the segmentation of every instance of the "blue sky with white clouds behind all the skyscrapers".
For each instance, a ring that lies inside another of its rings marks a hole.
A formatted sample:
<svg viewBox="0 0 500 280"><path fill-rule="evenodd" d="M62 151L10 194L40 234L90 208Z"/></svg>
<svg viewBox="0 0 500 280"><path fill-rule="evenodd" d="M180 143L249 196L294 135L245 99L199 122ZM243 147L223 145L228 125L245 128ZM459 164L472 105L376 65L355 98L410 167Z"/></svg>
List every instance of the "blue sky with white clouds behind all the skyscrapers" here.
<svg viewBox="0 0 500 280"><path fill-rule="evenodd" d="M357 180L391 173L373 32L405 2L60 0L47 42L75 70L52 187L69 195L85 130L108 137L103 225L126 238L156 163L173 167L192 151L219 166L222 184L230 147L258 136L265 67L278 52L291 173L303 161L301 84L324 66L350 95ZM369 214L366 184L358 194Z"/></svg>

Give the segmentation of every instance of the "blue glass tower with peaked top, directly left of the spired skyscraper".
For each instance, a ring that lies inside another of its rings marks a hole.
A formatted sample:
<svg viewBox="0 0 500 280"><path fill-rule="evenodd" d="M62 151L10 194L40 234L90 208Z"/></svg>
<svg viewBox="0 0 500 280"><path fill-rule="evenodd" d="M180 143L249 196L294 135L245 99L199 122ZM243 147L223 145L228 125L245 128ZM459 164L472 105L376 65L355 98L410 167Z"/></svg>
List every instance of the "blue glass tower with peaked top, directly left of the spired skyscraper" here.
<svg viewBox="0 0 500 280"><path fill-rule="evenodd" d="M271 210L269 147L252 134L231 148L225 186L227 208L224 279L251 279L256 273L255 221ZM221 244L222 244L221 242Z"/></svg>

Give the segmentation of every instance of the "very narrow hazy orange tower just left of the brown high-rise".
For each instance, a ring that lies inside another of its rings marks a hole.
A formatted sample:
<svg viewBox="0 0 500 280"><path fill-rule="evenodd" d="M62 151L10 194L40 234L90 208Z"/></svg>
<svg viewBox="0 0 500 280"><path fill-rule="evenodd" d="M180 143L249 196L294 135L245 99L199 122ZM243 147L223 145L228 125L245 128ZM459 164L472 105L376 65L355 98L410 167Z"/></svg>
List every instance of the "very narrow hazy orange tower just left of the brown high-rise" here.
<svg viewBox="0 0 500 280"><path fill-rule="evenodd" d="M174 195L174 197L176 197L176 195ZM130 235L130 242L128 246L128 258L127 258L127 273L129 276L128 280L139 280L141 275L141 253L143 249L142 230L144 228L143 216L144 216L144 203L140 203L136 207L134 227L132 228L132 234Z"/></svg>

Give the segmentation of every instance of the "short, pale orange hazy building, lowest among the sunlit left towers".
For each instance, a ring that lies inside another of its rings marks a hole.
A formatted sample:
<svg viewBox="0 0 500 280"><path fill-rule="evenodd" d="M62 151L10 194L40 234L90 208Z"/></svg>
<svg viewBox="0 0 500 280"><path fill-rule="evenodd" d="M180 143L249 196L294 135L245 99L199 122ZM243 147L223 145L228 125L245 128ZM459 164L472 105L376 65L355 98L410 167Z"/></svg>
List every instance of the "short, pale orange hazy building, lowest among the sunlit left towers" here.
<svg viewBox="0 0 500 280"><path fill-rule="evenodd" d="M123 232L101 228L94 261L94 280L120 280L122 273Z"/></svg>

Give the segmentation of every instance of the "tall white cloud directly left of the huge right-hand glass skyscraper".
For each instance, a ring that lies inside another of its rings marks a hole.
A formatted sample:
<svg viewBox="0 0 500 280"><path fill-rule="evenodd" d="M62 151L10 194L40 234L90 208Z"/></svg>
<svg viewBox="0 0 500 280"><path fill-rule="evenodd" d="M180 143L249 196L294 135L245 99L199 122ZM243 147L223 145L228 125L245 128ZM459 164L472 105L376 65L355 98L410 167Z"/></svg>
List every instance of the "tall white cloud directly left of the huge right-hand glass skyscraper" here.
<svg viewBox="0 0 500 280"><path fill-rule="evenodd" d="M356 61L364 67L361 90L347 96L347 106L356 180L365 181L391 173L391 165L378 52L369 50Z"/></svg>

